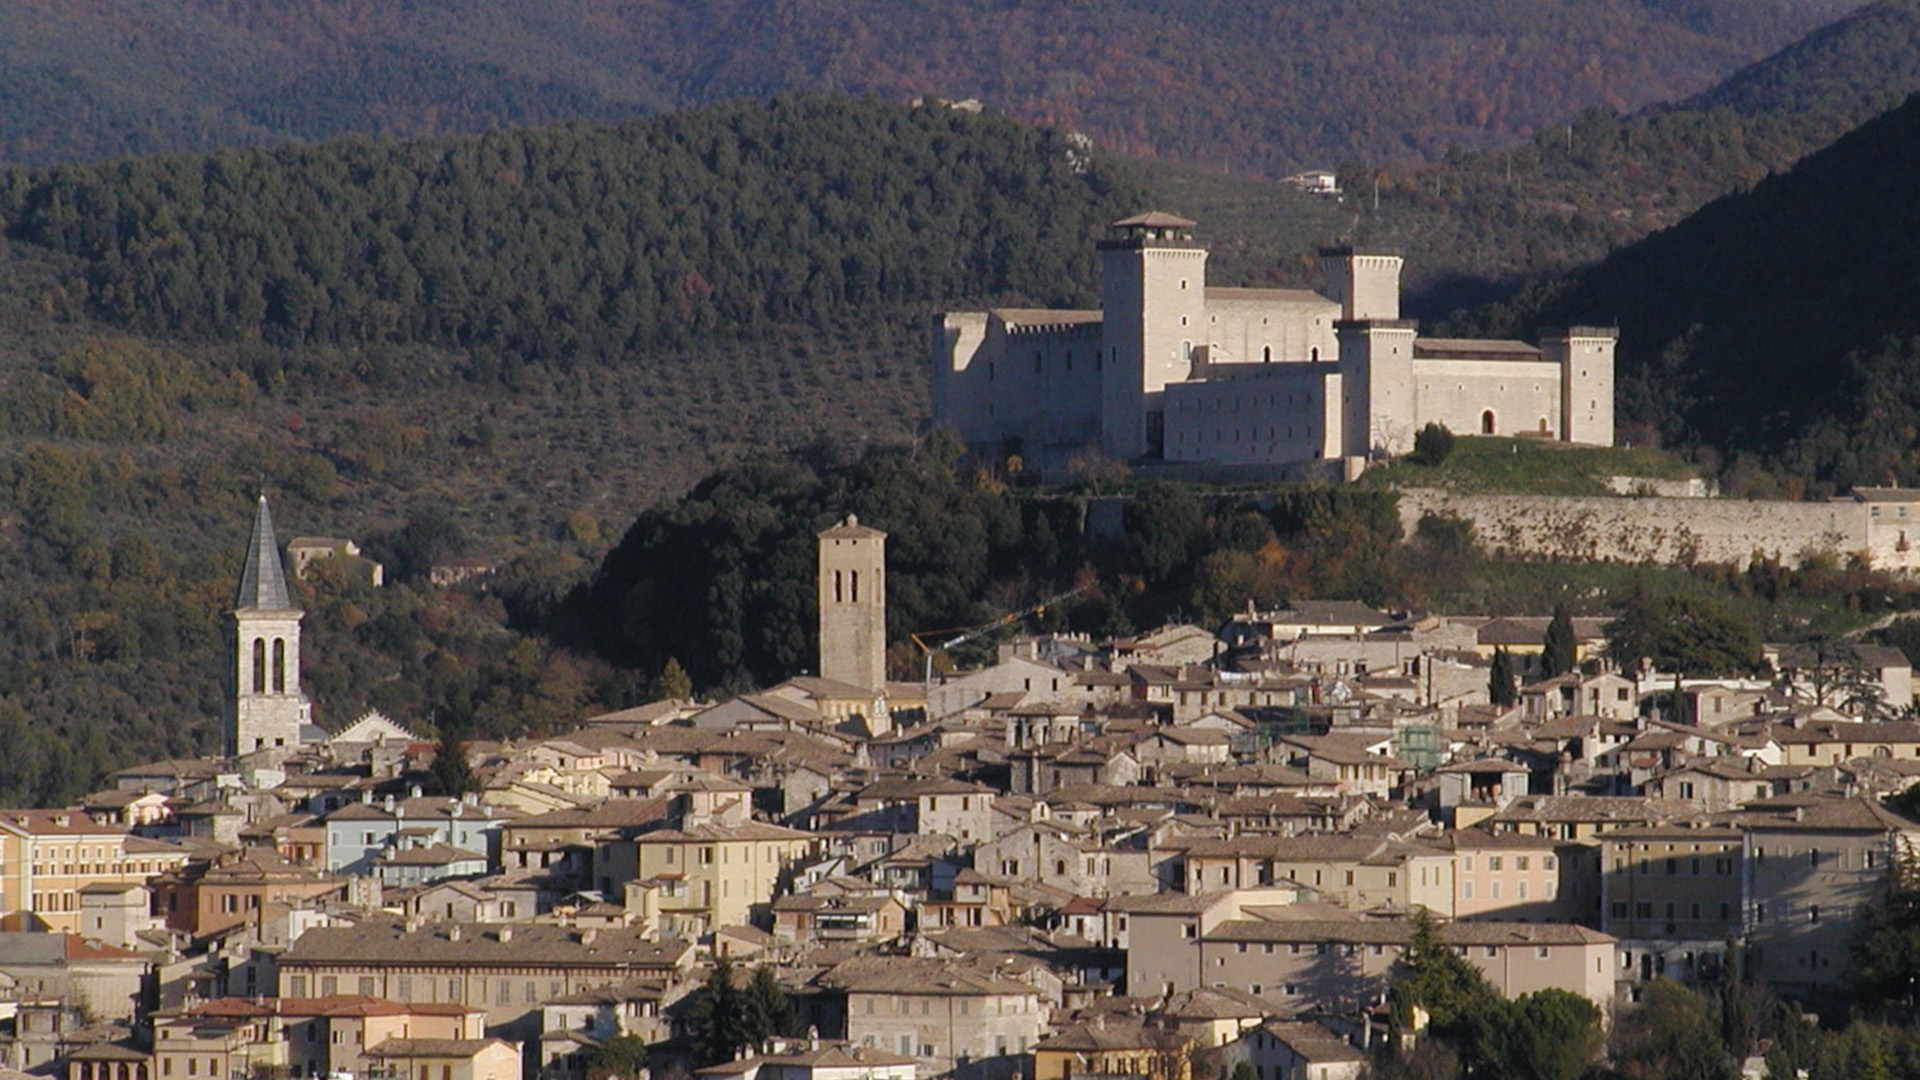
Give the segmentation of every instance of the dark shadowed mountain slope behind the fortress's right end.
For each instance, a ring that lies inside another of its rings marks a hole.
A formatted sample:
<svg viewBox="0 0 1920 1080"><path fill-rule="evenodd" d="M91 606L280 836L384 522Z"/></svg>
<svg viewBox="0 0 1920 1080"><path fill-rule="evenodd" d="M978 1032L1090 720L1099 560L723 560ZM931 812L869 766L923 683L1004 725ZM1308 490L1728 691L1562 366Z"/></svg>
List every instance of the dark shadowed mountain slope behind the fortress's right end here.
<svg viewBox="0 0 1920 1080"><path fill-rule="evenodd" d="M1920 479L1920 98L1751 192L1480 313L1617 321L1628 419L1807 479Z"/></svg>

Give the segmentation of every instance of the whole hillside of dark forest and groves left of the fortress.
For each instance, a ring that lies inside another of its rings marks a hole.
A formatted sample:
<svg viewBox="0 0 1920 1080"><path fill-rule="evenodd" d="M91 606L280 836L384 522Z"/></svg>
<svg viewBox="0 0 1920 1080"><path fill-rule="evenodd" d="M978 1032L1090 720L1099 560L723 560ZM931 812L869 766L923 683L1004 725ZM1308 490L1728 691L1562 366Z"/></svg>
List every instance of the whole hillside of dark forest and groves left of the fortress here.
<svg viewBox="0 0 1920 1080"><path fill-rule="evenodd" d="M1140 196L1069 150L781 100L8 175L0 805L217 746L259 490L282 534L396 578L301 586L324 724L513 734L643 700L649 673L524 630L714 465L906 444L947 290L1083 296ZM501 571L430 588L449 557Z"/></svg>

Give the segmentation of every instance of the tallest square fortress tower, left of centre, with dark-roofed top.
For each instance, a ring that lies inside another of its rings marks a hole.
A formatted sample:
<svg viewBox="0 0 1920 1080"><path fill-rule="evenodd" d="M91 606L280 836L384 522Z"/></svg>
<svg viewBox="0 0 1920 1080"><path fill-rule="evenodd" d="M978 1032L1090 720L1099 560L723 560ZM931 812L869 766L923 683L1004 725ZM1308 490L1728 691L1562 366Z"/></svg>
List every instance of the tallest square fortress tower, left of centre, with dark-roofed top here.
<svg viewBox="0 0 1920 1080"><path fill-rule="evenodd" d="M1192 375L1208 344L1206 248L1192 221L1140 213L1100 240L1100 446L1121 461L1158 455L1160 392Z"/></svg>

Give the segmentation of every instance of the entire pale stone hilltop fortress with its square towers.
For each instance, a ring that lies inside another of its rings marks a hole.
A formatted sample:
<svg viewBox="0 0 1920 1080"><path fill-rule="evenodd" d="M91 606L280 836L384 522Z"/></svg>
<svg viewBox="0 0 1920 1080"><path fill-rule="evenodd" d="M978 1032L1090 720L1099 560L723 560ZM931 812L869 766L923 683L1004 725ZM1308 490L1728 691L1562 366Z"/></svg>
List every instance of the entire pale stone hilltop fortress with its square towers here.
<svg viewBox="0 0 1920 1080"><path fill-rule="evenodd" d="M1112 225L1100 309L948 311L933 321L933 421L968 446L1062 465L1296 465L1405 454L1461 434L1613 444L1615 331L1540 344L1423 338L1402 259L1327 248L1325 286L1210 288L1192 221Z"/></svg>

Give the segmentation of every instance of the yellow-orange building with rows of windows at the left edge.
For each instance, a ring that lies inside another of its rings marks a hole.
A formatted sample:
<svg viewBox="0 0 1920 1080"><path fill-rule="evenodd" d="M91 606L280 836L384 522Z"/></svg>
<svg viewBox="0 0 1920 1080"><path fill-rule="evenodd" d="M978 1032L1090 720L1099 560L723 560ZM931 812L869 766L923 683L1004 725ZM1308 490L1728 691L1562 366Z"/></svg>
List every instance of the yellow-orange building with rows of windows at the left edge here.
<svg viewBox="0 0 1920 1080"><path fill-rule="evenodd" d="M146 884L182 863L184 849L77 809L0 811L0 928L84 934L81 890Z"/></svg>

